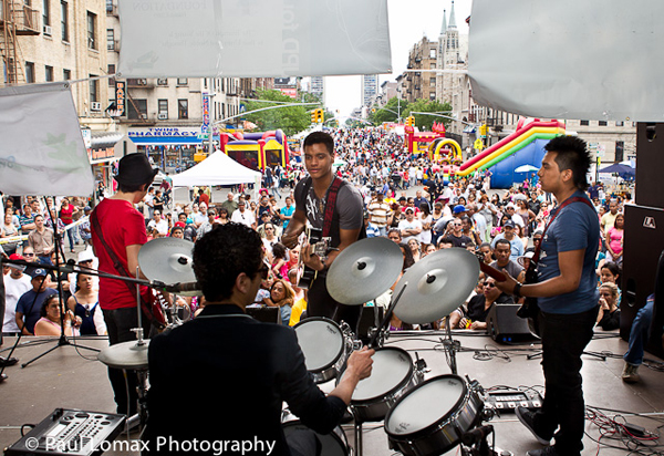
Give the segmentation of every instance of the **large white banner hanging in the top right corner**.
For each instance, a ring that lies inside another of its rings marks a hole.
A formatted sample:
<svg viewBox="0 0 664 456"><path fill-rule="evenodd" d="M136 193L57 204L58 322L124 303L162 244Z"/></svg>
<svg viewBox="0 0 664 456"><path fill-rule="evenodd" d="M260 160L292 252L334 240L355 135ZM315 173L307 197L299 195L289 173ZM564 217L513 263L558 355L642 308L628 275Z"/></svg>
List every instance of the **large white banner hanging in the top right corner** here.
<svg viewBox="0 0 664 456"><path fill-rule="evenodd" d="M661 0L474 0L468 74L485 106L664 121Z"/></svg>

